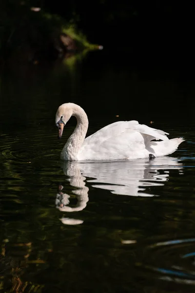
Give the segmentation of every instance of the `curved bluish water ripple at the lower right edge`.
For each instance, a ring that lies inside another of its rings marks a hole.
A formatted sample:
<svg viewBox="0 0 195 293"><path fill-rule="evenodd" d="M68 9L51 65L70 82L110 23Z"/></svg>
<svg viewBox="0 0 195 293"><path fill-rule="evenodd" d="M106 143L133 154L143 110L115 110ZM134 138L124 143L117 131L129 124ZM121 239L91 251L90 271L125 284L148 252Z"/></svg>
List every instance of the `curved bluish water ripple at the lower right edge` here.
<svg viewBox="0 0 195 293"><path fill-rule="evenodd" d="M195 285L194 250L195 238L156 242L144 249L144 259L136 265L139 269L156 272L158 279Z"/></svg>

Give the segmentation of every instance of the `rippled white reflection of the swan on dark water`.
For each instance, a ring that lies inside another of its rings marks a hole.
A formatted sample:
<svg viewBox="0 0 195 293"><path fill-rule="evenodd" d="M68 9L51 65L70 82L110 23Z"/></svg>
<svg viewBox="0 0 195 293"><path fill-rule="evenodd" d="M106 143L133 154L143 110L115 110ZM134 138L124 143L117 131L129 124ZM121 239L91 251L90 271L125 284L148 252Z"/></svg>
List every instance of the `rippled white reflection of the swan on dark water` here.
<svg viewBox="0 0 195 293"><path fill-rule="evenodd" d="M154 160L139 159L132 161L64 161L61 163L71 189L77 197L75 207L69 206L70 195L59 185L56 207L60 211L75 212L84 209L89 201L86 182L94 188L110 190L119 195L155 196L147 193L147 187L163 186L169 179L169 170L177 169L182 174L182 163L173 157L157 157ZM62 218L63 224L78 225L82 220Z"/></svg>

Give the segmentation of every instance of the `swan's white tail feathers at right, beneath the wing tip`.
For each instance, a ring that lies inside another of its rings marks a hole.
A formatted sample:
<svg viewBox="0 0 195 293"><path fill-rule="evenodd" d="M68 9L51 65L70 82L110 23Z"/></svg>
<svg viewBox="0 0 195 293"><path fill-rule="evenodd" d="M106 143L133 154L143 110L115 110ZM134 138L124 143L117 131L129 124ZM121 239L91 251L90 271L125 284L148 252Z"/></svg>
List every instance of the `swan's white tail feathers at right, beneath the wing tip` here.
<svg viewBox="0 0 195 293"><path fill-rule="evenodd" d="M168 141L151 142L151 147L154 149L156 156L166 156L175 152L177 147L184 141L184 138L178 137Z"/></svg>

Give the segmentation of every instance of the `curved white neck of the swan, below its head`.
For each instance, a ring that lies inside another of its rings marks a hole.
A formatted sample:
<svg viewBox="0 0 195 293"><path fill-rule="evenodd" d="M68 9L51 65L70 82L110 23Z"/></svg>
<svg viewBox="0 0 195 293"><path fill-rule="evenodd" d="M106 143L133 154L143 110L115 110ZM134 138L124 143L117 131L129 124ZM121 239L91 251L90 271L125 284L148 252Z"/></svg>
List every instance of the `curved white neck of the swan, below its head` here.
<svg viewBox="0 0 195 293"><path fill-rule="evenodd" d="M85 139L89 122L85 111L78 105L75 105L72 116L76 117L77 126L62 149L61 159L76 161L78 160L78 151Z"/></svg>

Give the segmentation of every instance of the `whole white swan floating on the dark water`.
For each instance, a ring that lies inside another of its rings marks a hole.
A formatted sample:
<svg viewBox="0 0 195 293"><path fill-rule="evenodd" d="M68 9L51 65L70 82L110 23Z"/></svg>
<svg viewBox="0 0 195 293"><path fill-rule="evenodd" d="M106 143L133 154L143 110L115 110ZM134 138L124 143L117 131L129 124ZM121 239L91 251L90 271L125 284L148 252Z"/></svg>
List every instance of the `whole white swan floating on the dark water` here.
<svg viewBox="0 0 195 293"><path fill-rule="evenodd" d="M66 161L80 160L130 160L172 154L183 138L168 139L162 130L141 125L137 121L118 121L105 126L85 138L88 129L88 118L78 105L66 103L59 106L56 113L56 125L59 127L59 138L63 128L75 116L77 126L61 151L61 159ZM162 140L162 141L153 141Z"/></svg>

